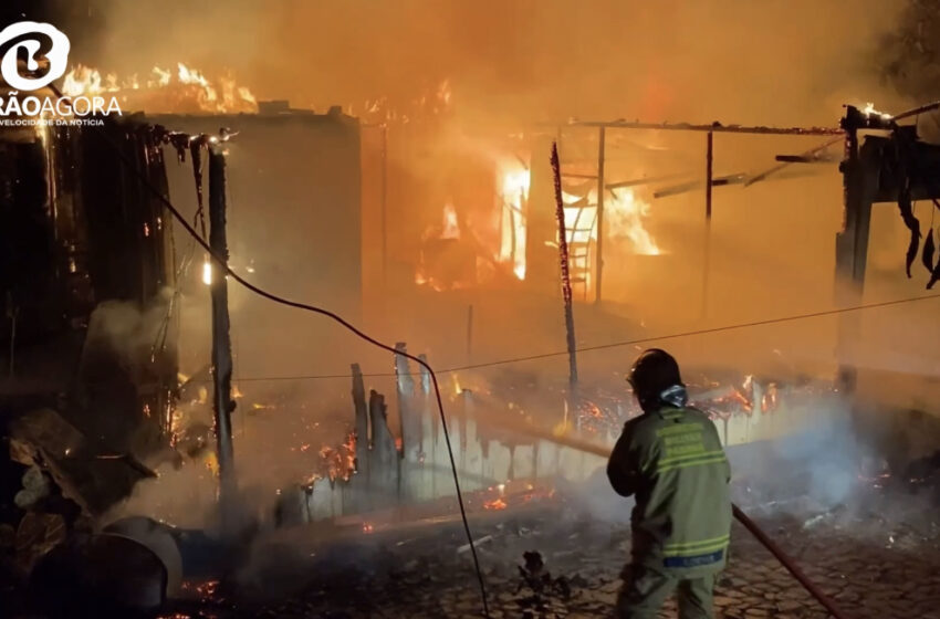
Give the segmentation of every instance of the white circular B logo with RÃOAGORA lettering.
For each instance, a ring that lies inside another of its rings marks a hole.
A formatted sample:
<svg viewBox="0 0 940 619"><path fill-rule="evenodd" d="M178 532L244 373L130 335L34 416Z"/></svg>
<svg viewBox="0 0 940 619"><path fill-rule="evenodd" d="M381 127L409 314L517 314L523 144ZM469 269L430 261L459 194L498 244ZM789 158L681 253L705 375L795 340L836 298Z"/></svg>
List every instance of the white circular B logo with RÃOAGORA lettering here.
<svg viewBox="0 0 940 619"><path fill-rule="evenodd" d="M44 53L48 62L46 71L41 76L21 75L19 57L25 52L25 69L34 74L40 70L38 57L42 41L45 36L51 41L51 48ZM12 44L0 60L0 75L10 86L6 96L0 96L0 126L3 125L87 125L103 124L101 116L116 113L121 115L117 98L103 96L69 96L39 97L28 95L20 97L20 92L33 92L50 85L65 74L69 65L69 52L72 43L64 32L50 23L21 21L8 25L0 31L0 49ZM25 116L25 117L23 117ZM95 118L85 118L95 116Z"/></svg>

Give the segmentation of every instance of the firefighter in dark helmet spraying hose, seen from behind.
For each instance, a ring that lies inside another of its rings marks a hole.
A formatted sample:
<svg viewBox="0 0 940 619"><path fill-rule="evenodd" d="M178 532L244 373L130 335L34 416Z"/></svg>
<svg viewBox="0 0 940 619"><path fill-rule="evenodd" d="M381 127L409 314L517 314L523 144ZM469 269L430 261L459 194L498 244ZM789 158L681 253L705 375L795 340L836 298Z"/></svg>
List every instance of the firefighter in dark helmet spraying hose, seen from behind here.
<svg viewBox="0 0 940 619"><path fill-rule="evenodd" d="M681 619L711 619L731 532L728 459L714 424L688 406L671 355L646 350L627 380L643 415L624 426L607 463L614 490L636 497L616 616L656 617L676 591Z"/></svg>

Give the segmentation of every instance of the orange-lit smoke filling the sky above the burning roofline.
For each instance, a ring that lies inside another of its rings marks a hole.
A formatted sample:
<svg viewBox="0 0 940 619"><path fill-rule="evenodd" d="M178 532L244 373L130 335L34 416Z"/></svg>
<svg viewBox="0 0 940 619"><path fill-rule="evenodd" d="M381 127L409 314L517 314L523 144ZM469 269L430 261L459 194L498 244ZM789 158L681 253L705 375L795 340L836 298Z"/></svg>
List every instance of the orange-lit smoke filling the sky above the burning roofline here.
<svg viewBox="0 0 940 619"><path fill-rule="evenodd" d="M95 60L123 72L180 60L229 69L265 98L320 109L406 102L449 78L474 119L832 123L844 97L870 96L876 44L902 6L101 2Z"/></svg>

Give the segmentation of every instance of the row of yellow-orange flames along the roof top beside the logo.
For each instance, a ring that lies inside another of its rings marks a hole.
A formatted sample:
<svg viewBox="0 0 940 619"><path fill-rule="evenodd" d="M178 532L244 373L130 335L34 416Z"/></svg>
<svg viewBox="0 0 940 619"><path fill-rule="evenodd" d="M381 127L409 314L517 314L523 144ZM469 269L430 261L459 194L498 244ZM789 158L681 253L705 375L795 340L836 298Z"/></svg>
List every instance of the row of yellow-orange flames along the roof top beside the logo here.
<svg viewBox="0 0 940 619"><path fill-rule="evenodd" d="M152 114L258 112L254 95L231 76L213 82L181 62L175 72L155 66L144 80L136 74L124 80L113 73L102 76L98 70L80 64L65 75L62 92L72 97L106 93L116 96L124 108Z"/></svg>

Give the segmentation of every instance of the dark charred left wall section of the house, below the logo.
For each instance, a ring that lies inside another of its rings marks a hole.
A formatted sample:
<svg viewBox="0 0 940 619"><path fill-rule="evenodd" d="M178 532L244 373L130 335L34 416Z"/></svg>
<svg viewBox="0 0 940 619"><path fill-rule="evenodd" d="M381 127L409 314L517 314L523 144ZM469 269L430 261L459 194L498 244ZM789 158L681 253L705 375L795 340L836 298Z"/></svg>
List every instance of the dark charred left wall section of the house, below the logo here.
<svg viewBox="0 0 940 619"><path fill-rule="evenodd" d="M148 474L176 389L161 138L135 118L4 127L0 161L4 434L101 512Z"/></svg>

